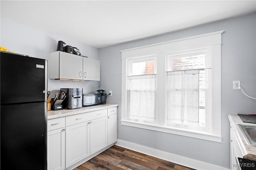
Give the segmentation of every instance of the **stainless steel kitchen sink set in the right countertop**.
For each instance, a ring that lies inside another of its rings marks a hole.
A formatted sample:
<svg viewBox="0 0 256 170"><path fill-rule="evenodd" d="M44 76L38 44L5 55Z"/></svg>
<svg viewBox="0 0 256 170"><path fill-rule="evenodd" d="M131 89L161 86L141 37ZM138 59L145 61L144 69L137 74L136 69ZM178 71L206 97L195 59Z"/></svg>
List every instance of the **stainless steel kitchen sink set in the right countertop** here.
<svg viewBox="0 0 256 170"><path fill-rule="evenodd" d="M246 143L256 146L256 126L238 124L238 127L242 130Z"/></svg>

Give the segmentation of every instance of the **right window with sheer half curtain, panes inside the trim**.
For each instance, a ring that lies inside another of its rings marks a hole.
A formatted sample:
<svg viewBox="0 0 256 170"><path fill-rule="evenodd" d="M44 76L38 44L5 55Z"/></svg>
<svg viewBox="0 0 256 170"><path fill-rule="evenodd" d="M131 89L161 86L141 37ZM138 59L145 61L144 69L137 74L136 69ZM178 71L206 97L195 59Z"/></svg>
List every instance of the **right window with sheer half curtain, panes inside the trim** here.
<svg viewBox="0 0 256 170"><path fill-rule="evenodd" d="M168 53L166 70L166 125L208 130L211 114L210 47Z"/></svg>

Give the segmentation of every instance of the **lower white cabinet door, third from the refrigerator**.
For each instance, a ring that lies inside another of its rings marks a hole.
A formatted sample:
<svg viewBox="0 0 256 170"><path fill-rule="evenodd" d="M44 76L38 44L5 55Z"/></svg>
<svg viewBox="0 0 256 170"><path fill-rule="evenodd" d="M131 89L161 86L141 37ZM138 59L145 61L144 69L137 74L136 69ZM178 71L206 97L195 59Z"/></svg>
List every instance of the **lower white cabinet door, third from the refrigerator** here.
<svg viewBox="0 0 256 170"><path fill-rule="evenodd" d="M90 154L108 146L107 117L90 121Z"/></svg>

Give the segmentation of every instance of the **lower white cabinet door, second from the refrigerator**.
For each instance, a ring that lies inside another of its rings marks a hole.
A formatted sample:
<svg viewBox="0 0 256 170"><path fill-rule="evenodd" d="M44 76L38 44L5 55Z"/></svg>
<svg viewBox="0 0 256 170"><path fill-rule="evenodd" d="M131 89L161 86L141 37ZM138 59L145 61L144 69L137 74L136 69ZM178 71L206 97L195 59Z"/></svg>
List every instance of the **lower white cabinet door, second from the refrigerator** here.
<svg viewBox="0 0 256 170"><path fill-rule="evenodd" d="M66 168L90 156L89 121L66 127Z"/></svg>

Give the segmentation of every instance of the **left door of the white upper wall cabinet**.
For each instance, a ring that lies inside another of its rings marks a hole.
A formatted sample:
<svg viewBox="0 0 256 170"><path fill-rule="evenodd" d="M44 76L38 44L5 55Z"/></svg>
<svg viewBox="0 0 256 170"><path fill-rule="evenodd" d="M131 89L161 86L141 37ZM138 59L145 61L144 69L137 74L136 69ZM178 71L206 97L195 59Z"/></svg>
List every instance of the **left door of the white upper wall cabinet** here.
<svg viewBox="0 0 256 170"><path fill-rule="evenodd" d="M82 80L83 57L60 52L60 78Z"/></svg>

